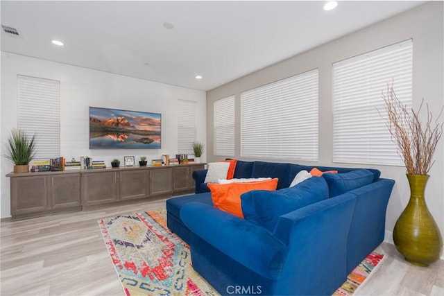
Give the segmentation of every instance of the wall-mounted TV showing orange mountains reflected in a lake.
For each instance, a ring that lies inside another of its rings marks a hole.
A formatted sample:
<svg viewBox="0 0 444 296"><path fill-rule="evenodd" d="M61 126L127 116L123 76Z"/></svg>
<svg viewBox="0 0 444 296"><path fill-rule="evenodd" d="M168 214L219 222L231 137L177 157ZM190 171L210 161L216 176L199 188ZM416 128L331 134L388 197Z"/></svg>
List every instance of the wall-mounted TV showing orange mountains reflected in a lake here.
<svg viewBox="0 0 444 296"><path fill-rule="evenodd" d="M89 149L160 149L162 115L89 107Z"/></svg>

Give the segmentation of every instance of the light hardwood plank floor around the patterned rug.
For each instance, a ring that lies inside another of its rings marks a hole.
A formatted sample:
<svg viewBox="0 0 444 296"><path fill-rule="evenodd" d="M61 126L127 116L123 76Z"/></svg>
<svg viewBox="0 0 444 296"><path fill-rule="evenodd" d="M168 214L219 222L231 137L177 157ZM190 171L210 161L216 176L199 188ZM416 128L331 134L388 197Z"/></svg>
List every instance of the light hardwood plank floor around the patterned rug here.
<svg viewBox="0 0 444 296"><path fill-rule="evenodd" d="M97 220L165 207L139 202L27 220L1 221L0 294L125 295ZM410 265L393 245L355 295L444 295L444 261Z"/></svg>

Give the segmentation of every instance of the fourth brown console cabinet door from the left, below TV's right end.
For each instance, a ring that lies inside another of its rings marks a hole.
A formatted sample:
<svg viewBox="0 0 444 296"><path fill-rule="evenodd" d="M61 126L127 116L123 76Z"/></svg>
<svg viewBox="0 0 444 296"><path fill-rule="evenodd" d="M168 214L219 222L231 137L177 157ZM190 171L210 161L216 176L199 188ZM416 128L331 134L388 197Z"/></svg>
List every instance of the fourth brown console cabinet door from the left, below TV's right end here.
<svg viewBox="0 0 444 296"><path fill-rule="evenodd" d="M146 170L120 172L120 200L146 198Z"/></svg>

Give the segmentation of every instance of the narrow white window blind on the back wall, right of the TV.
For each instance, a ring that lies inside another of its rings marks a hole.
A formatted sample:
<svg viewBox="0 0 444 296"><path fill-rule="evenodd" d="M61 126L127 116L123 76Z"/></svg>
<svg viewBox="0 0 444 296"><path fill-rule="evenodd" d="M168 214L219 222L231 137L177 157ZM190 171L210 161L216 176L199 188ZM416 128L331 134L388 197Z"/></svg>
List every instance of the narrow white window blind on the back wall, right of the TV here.
<svg viewBox="0 0 444 296"><path fill-rule="evenodd" d="M178 100L178 153L194 153L196 115L196 102Z"/></svg>

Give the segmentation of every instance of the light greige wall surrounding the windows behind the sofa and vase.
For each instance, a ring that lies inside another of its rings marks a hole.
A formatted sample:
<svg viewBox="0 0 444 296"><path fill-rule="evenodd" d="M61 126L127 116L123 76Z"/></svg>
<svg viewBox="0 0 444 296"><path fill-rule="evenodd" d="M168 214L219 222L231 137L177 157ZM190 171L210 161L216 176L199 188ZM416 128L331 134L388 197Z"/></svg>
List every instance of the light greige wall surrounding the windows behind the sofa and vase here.
<svg viewBox="0 0 444 296"><path fill-rule="evenodd" d="M386 216L386 241L391 242L391 233L402 209L409 200L409 185L405 168L397 166L369 166L367 164L333 163L333 107L332 63L373 51L390 44L413 38L413 105L417 109L421 99L430 110L439 110L444 105L443 89L443 1L432 1L409 10L361 31L323 44L293 58L284 60L248 76L229 82L207 92L207 153L208 162L220 159L212 151L213 102L234 94L237 100L236 157L240 156L240 93L269 82L287 78L311 69L319 69L319 161L325 166L371 167L382 171L382 177L395 180L395 187L388 203ZM326 28L328 29L328 28ZM395 87L396 90L396 87ZM426 187L426 201L444 237L444 139L438 143L436 160ZM285 162L286 159L282 159ZM314 164L313 162L300 162ZM371 221L368 221L371 223Z"/></svg>

